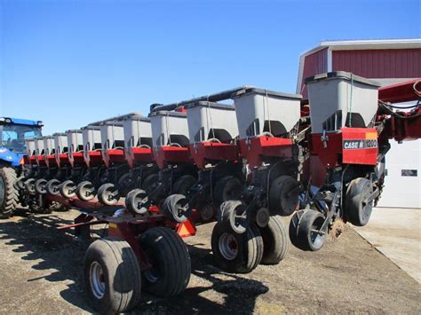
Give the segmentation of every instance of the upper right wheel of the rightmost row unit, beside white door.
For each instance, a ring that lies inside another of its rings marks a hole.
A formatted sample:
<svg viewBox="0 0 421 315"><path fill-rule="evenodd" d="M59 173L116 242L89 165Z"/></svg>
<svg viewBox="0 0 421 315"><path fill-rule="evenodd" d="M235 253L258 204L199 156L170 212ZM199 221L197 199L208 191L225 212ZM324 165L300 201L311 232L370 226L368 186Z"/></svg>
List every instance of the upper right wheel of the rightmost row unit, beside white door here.
<svg viewBox="0 0 421 315"><path fill-rule="evenodd" d="M346 219L356 226L364 226L369 223L369 217L373 209L373 200L369 200L373 192L373 185L367 178L356 178L351 181L346 189L344 212Z"/></svg>

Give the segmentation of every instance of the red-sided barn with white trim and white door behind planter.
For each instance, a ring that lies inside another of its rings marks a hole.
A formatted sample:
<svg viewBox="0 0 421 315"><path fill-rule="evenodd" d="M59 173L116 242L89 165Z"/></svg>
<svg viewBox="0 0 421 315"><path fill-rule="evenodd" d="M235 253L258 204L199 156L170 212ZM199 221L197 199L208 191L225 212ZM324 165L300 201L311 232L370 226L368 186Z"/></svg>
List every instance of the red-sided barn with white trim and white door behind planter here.
<svg viewBox="0 0 421 315"><path fill-rule="evenodd" d="M327 41L299 58L297 92L307 97L306 77L347 71L381 85L421 78L421 39ZM392 144L379 206L421 208L421 141Z"/></svg>

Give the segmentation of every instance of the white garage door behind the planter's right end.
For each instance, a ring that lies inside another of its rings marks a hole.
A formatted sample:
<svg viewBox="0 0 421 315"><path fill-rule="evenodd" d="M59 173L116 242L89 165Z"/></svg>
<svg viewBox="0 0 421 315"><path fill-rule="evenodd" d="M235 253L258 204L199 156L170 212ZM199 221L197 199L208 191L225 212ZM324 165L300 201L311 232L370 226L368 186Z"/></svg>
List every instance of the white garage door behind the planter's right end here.
<svg viewBox="0 0 421 315"><path fill-rule="evenodd" d="M378 207L421 208L421 140L391 141L385 156L385 188Z"/></svg>

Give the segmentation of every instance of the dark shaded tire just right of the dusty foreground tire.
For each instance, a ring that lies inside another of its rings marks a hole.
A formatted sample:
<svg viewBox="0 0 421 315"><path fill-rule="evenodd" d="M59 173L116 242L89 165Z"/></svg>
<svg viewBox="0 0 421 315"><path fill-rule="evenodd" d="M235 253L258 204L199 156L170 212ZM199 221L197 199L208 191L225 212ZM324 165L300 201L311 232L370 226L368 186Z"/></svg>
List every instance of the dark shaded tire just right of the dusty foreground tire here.
<svg viewBox="0 0 421 315"><path fill-rule="evenodd" d="M139 243L152 264L151 270L142 273L144 290L162 297L184 291L190 280L191 263L179 235L168 227L154 227L140 236Z"/></svg>

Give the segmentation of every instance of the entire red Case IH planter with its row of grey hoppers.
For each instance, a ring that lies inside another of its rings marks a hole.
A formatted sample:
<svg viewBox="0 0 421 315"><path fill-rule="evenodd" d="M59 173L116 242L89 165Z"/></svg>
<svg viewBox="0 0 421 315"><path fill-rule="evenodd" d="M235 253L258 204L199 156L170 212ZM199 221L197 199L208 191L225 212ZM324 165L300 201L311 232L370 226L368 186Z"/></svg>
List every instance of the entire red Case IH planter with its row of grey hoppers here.
<svg viewBox="0 0 421 315"><path fill-rule="evenodd" d="M310 117L308 106L300 114L298 95L241 87L153 106L151 122L129 114L28 140L25 159L10 162L6 152L2 160L0 215L10 216L18 201L32 211L60 204L82 211L60 229L88 236L91 225L107 224L108 236L91 244L83 264L91 305L103 313L130 311L141 290L182 292L191 267L181 237L215 217L211 246L219 266L250 272L277 264L288 251L280 215L297 206L290 240L298 248L322 248L342 222L367 224L389 139L421 137L418 81L380 89L377 102L375 84L331 73L307 79ZM235 112L218 103L229 98ZM385 103L409 100L418 103L407 112ZM2 127L18 121L0 119ZM91 186L81 185L86 181ZM113 188L108 197L131 190L125 207L115 197L107 206L94 199L104 184ZM84 189L79 198L77 185Z"/></svg>

